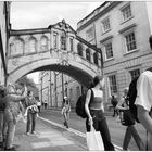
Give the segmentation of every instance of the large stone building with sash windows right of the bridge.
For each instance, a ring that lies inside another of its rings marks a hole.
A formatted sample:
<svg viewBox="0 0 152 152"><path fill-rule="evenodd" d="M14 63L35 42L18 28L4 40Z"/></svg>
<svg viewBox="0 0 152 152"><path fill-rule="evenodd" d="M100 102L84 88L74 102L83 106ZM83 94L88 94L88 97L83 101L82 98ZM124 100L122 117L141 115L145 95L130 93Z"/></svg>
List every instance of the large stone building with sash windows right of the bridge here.
<svg viewBox="0 0 152 152"><path fill-rule="evenodd" d="M130 80L152 66L152 2L103 2L78 22L77 33L102 49L105 101L119 99Z"/></svg>

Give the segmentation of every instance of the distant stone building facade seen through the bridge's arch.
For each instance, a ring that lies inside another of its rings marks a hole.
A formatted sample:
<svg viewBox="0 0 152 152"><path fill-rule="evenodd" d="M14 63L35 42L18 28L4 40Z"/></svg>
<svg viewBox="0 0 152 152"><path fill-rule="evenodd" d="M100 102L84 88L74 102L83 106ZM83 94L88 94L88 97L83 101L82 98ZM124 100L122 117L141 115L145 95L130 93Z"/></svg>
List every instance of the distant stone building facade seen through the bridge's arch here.
<svg viewBox="0 0 152 152"><path fill-rule="evenodd" d="M61 109L63 97L68 97L72 109L81 94L81 85L72 77L54 71L42 71L39 74L39 98L47 101L49 107Z"/></svg>

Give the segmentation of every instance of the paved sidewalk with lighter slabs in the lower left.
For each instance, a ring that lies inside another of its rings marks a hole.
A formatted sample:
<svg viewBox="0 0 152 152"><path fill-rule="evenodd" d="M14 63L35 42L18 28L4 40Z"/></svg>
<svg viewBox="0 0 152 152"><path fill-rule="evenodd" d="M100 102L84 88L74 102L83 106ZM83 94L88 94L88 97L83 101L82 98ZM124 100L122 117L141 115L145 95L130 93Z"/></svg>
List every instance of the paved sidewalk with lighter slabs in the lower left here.
<svg viewBox="0 0 152 152"><path fill-rule="evenodd" d="M36 135L25 135L26 124L22 121L16 125L14 144L17 151L86 151L78 142L66 136L65 129L58 129L37 118Z"/></svg>

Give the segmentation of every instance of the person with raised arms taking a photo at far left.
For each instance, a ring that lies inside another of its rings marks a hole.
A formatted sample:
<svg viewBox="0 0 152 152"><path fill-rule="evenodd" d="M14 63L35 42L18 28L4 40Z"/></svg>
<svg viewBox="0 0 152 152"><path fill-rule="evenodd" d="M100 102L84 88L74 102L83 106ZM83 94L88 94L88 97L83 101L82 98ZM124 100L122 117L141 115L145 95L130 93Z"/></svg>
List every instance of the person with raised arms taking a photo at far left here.
<svg viewBox="0 0 152 152"><path fill-rule="evenodd" d="M20 113L20 101L24 102L26 98L27 89L24 88L24 93L20 96L16 93L15 88L13 85L9 85L7 87L7 91L4 93L4 102L5 102L5 110L4 110L4 150L11 151L15 150L13 147L13 139L15 134L15 126L16 126L16 118Z"/></svg>

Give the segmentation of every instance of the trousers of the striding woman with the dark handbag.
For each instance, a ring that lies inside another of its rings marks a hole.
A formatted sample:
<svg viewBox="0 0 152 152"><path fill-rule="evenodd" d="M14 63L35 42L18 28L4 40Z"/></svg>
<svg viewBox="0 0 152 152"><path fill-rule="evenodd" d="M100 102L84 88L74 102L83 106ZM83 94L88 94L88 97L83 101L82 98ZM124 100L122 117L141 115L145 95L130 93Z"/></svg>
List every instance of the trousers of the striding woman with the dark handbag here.
<svg viewBox="0 0 152 152"><path fill-rule="evenodd" d="M131 136L134 137L134 139L136 141L136 144L139 148L139 150L142 150L142 151L145 150L144 144L143 144L141 138L139 137L139 135L138 135L134 125L127 126L127 128L126 128L126 134L125 134L124 142L123 142L123 149L124 150L128 149L128 144L130 142Z"/></svg>

